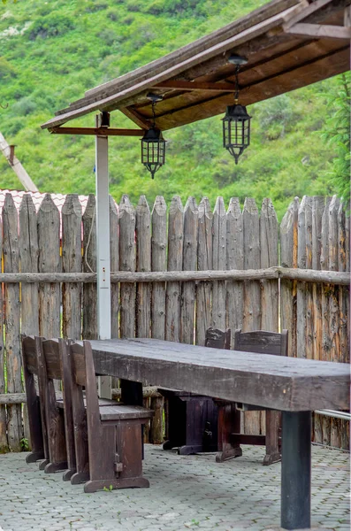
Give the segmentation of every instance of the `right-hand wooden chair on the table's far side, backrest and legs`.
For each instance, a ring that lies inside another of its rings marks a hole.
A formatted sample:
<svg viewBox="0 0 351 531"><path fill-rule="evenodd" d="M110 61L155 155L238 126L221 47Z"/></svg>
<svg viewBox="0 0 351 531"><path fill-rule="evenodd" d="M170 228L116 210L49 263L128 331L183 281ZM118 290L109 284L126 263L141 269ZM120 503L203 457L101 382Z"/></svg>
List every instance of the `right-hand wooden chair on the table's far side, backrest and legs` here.
<svg viewBox="0 0 351 531"><path fill-rule="evenodd" d="M242 333L241 330L236 330L234 334L234 350L271 354L275 356L287 356L287 349L287 330L283 330L281 334L276 332L266 332L263 330ZM245 404L237 404L237 407L242 411L262 409L256 408L255 406L245 406ZM236 448L239 447L240 444L265 445L266 455L263 459L263 465L272 465L273 463L277 463L281 458L281 415L279 412L271 410L267 410L265 414L266 435L245 435L240 434L240 429L234 429L229 439L233 447ZM236 427L240 427L240 411L234 413L233 422Z"/></svg>

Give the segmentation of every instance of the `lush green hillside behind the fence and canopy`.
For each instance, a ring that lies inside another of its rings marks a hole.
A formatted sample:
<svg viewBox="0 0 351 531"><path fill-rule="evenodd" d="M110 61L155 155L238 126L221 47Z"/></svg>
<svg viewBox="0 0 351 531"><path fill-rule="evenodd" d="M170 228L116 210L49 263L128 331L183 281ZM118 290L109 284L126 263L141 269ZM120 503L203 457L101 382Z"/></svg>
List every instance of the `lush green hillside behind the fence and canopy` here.
<svg viewBox="0 0 351 531"><path fill-rule="evenodd" d="M41 191L95 190L91 137L50 135L54 112L109 81L237 19L264 0L19 0L0 4L0 131ZM338 154L325 131L337 78L250 107L252 143L235 165L222 147L221 117L165 134L166 165L151 181L138 139L112 138L111 194L196 199L271 196L279 212L294 196L331 194ZM329 98L330 99L330 98ZM5 107L5 108L3 108ZM128 120L112 115L112 127ZM329 125L328 125L329 119ZM93 126L94 116L75 122ZM335 160L334 160L335 162ZM0 158L0 187L20 183Z"/></svg>

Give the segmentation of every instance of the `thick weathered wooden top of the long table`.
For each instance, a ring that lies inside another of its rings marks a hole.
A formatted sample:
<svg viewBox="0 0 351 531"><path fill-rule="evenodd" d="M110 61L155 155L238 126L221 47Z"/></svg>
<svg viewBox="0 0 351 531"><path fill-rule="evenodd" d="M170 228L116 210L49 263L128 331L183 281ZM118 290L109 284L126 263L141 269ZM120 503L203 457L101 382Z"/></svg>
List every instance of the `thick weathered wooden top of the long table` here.
<svg viewBox="0 0 351 531"><path fill-rule="evenodd" d="M349 407L348 364L156 339L92 340L95 371L282 411Z"/></svg>

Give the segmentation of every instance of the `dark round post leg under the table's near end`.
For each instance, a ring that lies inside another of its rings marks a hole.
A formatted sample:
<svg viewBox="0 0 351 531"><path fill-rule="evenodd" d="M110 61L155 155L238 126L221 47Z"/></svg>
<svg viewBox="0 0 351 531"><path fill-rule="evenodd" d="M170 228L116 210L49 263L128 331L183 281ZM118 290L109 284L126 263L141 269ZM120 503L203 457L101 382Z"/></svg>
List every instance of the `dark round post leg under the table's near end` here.
<svg viewBox="0 0 351 531"><path fill-rule="evenodd" d="M282 412L281 527L310 527L311 412Z"/></svg>

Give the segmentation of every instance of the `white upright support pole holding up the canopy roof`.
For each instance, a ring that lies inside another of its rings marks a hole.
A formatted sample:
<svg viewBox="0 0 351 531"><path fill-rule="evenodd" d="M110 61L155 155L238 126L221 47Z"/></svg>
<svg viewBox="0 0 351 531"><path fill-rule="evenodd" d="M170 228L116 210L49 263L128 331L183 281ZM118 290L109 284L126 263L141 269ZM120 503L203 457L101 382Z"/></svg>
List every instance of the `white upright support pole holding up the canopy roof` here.
<svg viewBox="0 0 351 531"><path fill-rule="evenodd" d="M111 339L111 269L108 137L95 137L96 272L98 339ZM111 398L111 378L101 376L99 396Z"/></svg>

